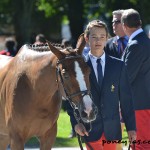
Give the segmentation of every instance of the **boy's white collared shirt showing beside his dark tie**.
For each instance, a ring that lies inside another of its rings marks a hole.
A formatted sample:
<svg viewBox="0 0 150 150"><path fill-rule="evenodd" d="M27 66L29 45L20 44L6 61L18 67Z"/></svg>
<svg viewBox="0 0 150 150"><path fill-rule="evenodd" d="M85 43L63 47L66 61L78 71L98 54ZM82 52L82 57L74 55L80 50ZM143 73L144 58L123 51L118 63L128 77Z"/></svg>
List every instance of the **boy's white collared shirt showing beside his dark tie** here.
<svg viewBox="0 0 150 150"><path fill-rule="evenodd" d="M91 60L91 63L92 63L92 66L93 66L93 69L94 69L94 72L95 72L95 76L96 76L96 79L98 81L98 73L97 73L97 59L101 58L101 65L102 65L102 73L103 73L103 76L104 76L104 71L105 71L105 52L103 53L103 55L101 57L96 57L94 55L91 54L91 51L89 52L89 58Z"/></svg>

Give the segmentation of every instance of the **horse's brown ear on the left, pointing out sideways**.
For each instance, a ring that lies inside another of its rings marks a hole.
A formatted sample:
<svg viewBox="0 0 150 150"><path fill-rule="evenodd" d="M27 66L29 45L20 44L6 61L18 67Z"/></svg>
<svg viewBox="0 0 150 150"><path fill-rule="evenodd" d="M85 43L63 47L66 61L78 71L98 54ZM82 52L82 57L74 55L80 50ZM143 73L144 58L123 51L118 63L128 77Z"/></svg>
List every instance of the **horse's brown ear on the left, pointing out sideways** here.
<svg viewBox="0 0 150 150"><path fill-rule="evenodd" d="M65 54L62 51L54 47L49 41L46 42L48 43L50 50L56 55L58 59L62 59L65 57Z"/></svg>

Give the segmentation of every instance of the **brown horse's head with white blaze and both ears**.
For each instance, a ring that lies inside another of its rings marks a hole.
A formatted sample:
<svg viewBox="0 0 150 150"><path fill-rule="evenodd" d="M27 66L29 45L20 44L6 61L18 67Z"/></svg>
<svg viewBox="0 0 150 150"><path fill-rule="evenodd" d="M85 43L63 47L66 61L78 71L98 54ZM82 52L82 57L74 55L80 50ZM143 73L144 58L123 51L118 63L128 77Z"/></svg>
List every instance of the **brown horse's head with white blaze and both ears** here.
<svg viewBox="0 0 150 150"><path fill-rule="evenodd" d="M84 35L79 37L76 49L60 51L49 42L48 44L58 58L57 76L67 99L72 106L78 108L80 117L84 122L95 120L97 107L94 105L90 94L90 68L81 56L85 46Z"/></svg>

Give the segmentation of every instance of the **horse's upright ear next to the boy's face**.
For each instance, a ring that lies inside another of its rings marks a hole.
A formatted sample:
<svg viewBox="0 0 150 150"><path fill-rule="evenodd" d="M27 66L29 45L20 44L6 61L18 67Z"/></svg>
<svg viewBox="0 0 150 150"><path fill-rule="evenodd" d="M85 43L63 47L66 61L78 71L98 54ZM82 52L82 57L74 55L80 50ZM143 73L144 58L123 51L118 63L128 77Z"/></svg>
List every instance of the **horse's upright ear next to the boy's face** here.
<svg viewBox="0 0 150 150"><path fill-rule="evenodd" d="M84 39L84 33L82 33L79 38L78 38L78 41L77 41L77 45L76 45L76 51L78 54L82 54L82 51L85 47L85 44L86 44L86 41Z"/></svg>

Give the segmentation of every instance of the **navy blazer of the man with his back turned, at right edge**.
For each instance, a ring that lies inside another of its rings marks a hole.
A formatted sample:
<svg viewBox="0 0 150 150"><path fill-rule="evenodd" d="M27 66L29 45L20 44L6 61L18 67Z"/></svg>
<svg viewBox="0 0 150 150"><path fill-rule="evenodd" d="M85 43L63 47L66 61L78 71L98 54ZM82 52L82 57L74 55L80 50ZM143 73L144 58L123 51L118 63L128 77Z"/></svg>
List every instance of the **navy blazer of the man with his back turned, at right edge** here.
<svg viewBox="0 0 150 150"><path fill-rule="evenodd" d="M133 91L135 110L150 109L150 39L144 32L127 45L123 60Z"/></svg>

